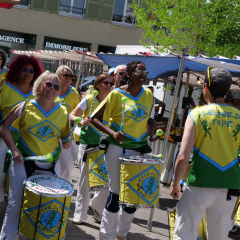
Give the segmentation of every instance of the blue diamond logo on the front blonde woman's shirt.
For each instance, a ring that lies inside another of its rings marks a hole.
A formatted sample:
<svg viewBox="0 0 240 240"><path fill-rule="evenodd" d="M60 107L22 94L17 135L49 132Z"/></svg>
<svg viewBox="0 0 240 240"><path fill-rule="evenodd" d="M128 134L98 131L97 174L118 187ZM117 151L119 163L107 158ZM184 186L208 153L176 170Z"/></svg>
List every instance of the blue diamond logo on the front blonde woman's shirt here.
<svg viewBox="0 0 240 240"><path fill-rule="evenodd" d="M60 133L58 128L47 120L29 128L28 131L43 142L56 137Z"/></svg>

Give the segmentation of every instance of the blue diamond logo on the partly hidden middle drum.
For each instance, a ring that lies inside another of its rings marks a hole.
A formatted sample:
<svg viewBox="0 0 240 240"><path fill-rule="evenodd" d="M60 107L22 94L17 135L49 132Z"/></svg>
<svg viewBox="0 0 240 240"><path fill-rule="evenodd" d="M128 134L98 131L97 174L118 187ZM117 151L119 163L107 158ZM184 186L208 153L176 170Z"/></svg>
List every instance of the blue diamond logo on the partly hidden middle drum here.
<svg viewBox="0 0 240 240"><path fill-rule="evenodd" d="M97 152L92 153L92 155L89 156L89 158L92 158L94 156L97 156ZM92 164L92 161L90 162L90 160L89 160L89 164ZM101 154L101 156L99 156L94 161L94 163L90 167L90 172L92 174L94 174L97 178L99 178L99 184L98 185L106 185L107 183L109 183L107 167L106 167L106 163L105 163L105 160L104 160L104 154ZM90 179L91 179L91 176L90 176ZM98 181L98 180L96 180L96 181Z"/></svg>

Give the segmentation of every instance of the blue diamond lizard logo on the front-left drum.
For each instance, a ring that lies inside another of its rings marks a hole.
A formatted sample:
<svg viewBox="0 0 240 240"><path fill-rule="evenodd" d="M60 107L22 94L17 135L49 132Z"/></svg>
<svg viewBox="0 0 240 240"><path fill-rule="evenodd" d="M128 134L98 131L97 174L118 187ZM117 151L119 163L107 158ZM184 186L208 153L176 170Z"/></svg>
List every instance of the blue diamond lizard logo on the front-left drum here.
<svg viewBox="0 0 240 240"><path fill-rule="evenodd" d="M26 209L24 212L32 224L29 226L28 233L34 236L35 228L37 228L38 233L50 239L59 233L59 230L66 224L69 209L54 199L40 206L37 204L37 206ZM39 216L37 223L36 216Z"/></svg>

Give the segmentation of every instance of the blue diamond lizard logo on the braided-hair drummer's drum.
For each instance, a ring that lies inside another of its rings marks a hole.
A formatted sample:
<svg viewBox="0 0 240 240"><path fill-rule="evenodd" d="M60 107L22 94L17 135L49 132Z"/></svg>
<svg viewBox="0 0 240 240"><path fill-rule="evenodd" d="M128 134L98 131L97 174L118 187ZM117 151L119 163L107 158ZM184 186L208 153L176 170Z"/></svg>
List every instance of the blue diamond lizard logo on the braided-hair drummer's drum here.
<svg viewBox="0 0 240 240"><path fill-rule="evenodd" d="M126 183L147 204L152 204L158 198L159 171L154 166L148 167Z"/></svg>

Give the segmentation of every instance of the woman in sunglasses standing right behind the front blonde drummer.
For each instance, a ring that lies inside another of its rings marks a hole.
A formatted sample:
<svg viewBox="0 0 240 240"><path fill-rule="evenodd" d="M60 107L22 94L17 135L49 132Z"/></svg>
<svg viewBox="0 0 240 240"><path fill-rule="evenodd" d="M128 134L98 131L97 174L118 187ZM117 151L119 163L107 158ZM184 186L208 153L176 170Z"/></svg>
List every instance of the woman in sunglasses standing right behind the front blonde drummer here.
<svg viewBox="0 0 240 240"><path fill-rule="evenodd" d="M58 67L56 74L61 82L61 91L55 102L61 103L63 106L65 106L70 114L80 102L80 96L77 90L71 86L73 71L68 66L61 65ZM75 147L76 143L73 141L71 148ZM72 182L71 174L74 167L73 160L75 160L73 159L72 150L73 149L64 149L59 156L60 177L69 182ZM66 159L68 159L68 161L66 161Z"/></svg>

